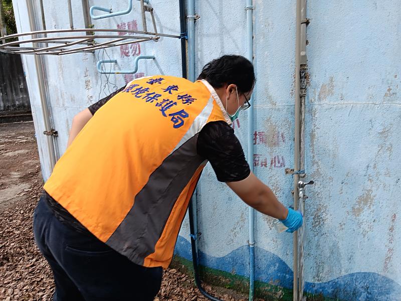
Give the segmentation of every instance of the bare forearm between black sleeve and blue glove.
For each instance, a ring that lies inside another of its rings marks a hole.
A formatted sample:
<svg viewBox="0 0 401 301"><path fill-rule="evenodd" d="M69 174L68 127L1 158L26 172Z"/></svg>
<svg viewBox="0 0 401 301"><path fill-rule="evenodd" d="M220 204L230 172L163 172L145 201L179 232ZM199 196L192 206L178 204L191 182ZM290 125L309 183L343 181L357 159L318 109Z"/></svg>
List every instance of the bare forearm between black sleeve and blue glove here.
<svg viewBox="0 0 401 301"><path fill-rule="evenodd" d="M242 181L229 182L227 185L249 206L263 214L285 220L288 209L281 204L272 190L263 184L253 173Z"/></svg>

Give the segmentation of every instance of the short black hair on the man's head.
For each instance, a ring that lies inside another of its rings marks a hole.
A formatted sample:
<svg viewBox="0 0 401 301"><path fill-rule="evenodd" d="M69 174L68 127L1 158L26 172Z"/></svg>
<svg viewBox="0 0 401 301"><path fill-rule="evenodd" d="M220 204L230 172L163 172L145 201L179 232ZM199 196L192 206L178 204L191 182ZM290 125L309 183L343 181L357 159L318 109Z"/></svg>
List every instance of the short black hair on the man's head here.
<svg viewBox="0 0 401 301"><path fill-rule="evenodd" d="M240 93L251 91L256 81L254 66L240 55L224 55L209 62L197 79L206 79L214 88L235 84Z"/></svg>

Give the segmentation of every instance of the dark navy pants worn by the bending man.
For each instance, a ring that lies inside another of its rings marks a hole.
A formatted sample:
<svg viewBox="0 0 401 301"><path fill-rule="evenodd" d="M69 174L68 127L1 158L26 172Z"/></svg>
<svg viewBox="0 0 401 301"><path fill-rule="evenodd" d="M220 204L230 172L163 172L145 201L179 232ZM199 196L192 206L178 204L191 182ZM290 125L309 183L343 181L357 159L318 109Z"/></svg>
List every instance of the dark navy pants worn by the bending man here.
<svg viewBox="0 0 401 301"><path fill-rule="evenodd" d="M43 197L34 213L35 241L53 270L56 301L153 300L162 268L134 264L90 233L61 223Z"/></svg>

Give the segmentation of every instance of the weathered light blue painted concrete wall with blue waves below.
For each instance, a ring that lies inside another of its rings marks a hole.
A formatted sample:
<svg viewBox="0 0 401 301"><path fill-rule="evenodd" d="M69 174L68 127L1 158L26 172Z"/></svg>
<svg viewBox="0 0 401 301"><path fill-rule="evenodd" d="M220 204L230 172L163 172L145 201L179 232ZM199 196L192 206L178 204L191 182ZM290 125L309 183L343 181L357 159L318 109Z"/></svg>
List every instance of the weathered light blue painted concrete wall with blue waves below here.
<svg viewBox="0 0 401 301"><path fill-rule="evenodd" d="M25 1L14 1L24 19ZM45 0L49 28L68 28L67 4ZM94 2L90 1L91 5ZM159 30L179 33L177 1L151 0ZM108 6L107 1L96 5ZM135 5L135 2L134 2ZM125 1L113 7L125 8ZM255 174L285 205L292 204L294 70L296 2L254 0L253 132ZM196 2L196 73L213 58L227 53L246 55L245 0ZM16 14L18 15L18 14ZM74 4L76 23L82 12ZM395 0L322 2L308 0L308 90L306 99L305 289L344 300L399 300L401 295L401 223L399 158L401 158L401 3ZM117 28L137 21L137 13L93 22ZM26 22L20 30L28 31ZM150 20L149 20L150 22ZM138 49L128 56L108 50L121 69L130 68ZM162 38L140 45L144 75L180 75L180 44ZM59 131L61 155L72 117L99 99L105 78L96 72L94 55L46 57L52 120ZM24 60L45 178L50 169L32 58ZM73 74L73 76L71 76ZM90 80L90 83L87 82ZM117 86L124 77L112 76ZM88 88L89 86L90 89ZM102 95L104 96L104 94ZM247 149L247 115L234 124ZM197 190L200 261L212 268L249 275L248 208L211 167ZM256 214L256 278L292 288L292 235L277 234L273 219ZM190 259L189 226L184 220L176 253ZM278 295L279 297L279 295Z"/></svg>

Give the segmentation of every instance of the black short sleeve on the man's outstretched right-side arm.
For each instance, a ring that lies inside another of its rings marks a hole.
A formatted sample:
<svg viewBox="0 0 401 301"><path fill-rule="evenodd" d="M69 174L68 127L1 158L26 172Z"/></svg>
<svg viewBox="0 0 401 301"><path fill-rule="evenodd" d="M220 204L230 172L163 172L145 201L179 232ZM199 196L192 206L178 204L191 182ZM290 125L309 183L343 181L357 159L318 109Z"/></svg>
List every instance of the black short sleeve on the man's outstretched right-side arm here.
<svg viewBox="0 0 401 301"><path fill-rule="evenodd" d="M241 181L251 173L241 143L225 121L209 122L200 130L197 153L209 160L220 182Z"/></svg>

